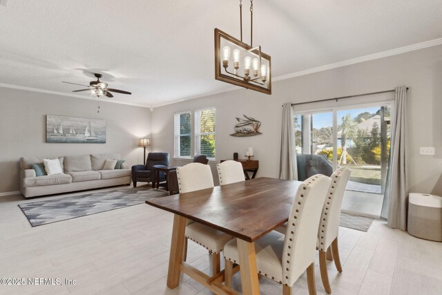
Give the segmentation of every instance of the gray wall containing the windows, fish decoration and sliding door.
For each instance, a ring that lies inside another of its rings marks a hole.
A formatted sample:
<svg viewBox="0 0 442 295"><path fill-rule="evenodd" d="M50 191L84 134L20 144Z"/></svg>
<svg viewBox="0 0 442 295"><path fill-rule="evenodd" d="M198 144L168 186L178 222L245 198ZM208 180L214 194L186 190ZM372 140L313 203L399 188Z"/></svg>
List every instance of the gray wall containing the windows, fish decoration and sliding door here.
<svg viewBox="0 0 442 295"><path fill-rule="evenodd" d="M154 149L173 155L173 113L215 106L217 162L232 158L233 152L245 155L247 147L253 146L255 158L260 161L258 176L276 178L284 102L383 91L404 84L410 87L411 191L442 195L442 46L273 82L271 96L241 89L155 108L152 116ZM263 134L245 138L229 136L233 133L235 117L242 114L260 120ZM419 146L435 146L436 155L419 155ZM186 164L182 160L171 162ZM211 163L212 168L214 165ZM213 173L216 175L215 169Z"/></svg>

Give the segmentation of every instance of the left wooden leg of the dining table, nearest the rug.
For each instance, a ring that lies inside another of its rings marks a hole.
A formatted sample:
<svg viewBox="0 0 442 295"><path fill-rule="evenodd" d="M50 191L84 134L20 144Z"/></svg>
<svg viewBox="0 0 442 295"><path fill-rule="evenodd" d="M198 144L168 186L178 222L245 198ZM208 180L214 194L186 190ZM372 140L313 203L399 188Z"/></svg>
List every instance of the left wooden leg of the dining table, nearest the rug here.
<svg viewBox="0 0 442 295"><path fill-rule="evenodd" d="M173 216L173 231L171 254L169 256L169 272L167 273L167 287L173 289L180 285L180 265L184 255L184 234L186 233L186 218L175 214Z"/></svg>

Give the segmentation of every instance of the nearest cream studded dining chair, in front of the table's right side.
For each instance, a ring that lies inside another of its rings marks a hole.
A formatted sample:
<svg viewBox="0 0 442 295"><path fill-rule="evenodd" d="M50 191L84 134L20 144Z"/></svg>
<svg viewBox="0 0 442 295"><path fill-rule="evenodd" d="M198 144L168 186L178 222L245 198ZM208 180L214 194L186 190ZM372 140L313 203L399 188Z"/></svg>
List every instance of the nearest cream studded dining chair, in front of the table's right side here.
<svg viewBox="0 0 442 295"><path fill-rule="evenodd" d="M309 294L316 294L316 229L330 182L330 178L320 174L305 180L296 191L285 235L271 231L255 241L258 274L282 284L283 294L291 294L291 287L306 269ZM236 240L224 246L224 258L226 285L231 287L233 263L239 263Z"/></svg>

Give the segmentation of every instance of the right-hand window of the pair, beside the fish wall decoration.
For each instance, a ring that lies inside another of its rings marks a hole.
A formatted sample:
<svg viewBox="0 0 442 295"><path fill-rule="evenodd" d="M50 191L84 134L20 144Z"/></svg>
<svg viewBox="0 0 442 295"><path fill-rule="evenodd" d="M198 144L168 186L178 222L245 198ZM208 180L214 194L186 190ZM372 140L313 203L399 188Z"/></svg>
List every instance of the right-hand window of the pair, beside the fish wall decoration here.
<svg viewBox="0 0 442 295"><path fill-rule="evenodd" d="M215 160L215 108L195 111L195 155Z"/></svg>

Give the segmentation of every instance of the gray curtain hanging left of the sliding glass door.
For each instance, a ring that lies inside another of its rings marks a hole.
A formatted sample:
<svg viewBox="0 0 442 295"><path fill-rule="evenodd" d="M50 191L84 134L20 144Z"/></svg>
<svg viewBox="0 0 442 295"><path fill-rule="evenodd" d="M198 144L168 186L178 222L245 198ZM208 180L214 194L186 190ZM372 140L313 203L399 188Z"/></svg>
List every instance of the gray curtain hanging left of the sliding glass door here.
<svg viewBox="0 0 442 295"><path fill-rule="evenodd" d="M291 103L282 106L281 152L279 161L279 178L298 180L295 150L295 121Z"/></svg>

